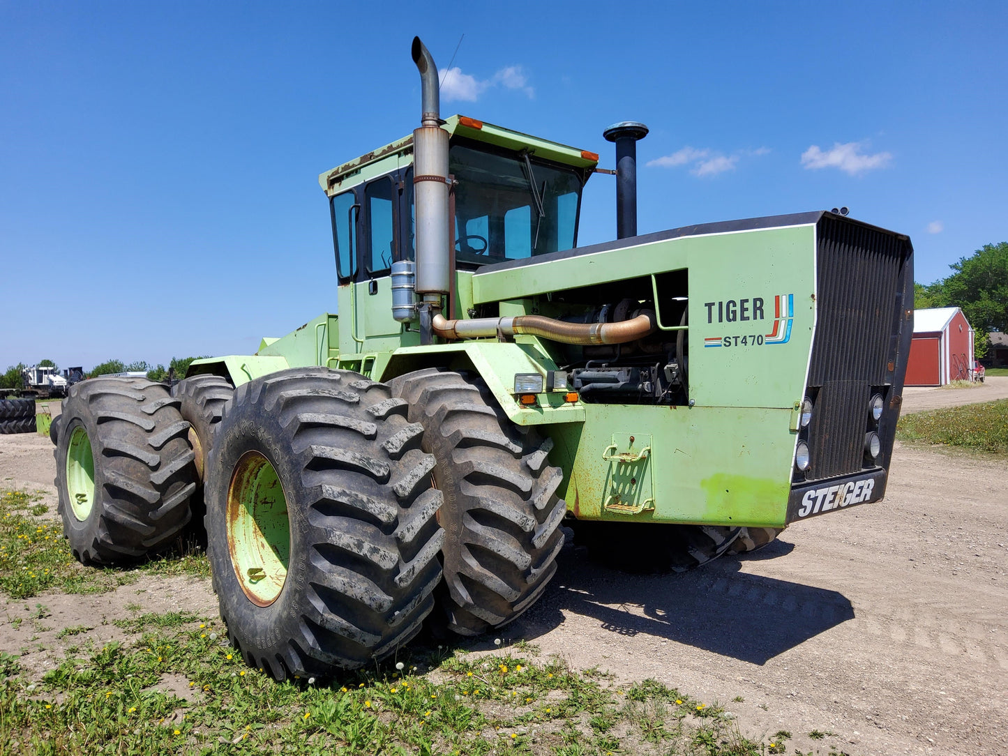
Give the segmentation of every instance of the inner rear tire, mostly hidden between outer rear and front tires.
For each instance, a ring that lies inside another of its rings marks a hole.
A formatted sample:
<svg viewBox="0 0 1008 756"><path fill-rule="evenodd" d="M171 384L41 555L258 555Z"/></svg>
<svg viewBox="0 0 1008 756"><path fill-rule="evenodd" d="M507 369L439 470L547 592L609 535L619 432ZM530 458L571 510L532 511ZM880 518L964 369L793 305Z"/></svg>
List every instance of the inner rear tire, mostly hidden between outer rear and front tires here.
<svg viewBox="0 0 1008 756"><path fill-rule="evenodd" d="M204 484L207 482L207 460L214 446L214 433L224 416L224 405L235 393L231 381L218 375L195 375L185 378L171 387L171 395L181 404L178 411L182 419L190 423L188 442L196 453L196 469L199 475L196 493L190 506L193 509L193 537L206 546L206 527L204 518L207 514L207 504L204 497Z"/></svg>

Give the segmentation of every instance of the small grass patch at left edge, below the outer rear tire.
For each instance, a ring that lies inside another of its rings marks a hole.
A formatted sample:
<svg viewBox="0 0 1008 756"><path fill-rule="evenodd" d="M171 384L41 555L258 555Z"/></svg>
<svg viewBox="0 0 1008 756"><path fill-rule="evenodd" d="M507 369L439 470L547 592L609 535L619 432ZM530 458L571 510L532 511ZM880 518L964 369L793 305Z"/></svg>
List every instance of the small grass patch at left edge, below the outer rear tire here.
<svg viewBox="0 0 1008 756"><path fill-rule="evenodd" d="M41 496L26 491L0 491L0 591L27 599L43 591L96 594L135 583L141 575L210 577L210 562L199 549L182 547L174 554L150 559L129 570L85 568L71 553L58 519L41 519Z"/></svg>

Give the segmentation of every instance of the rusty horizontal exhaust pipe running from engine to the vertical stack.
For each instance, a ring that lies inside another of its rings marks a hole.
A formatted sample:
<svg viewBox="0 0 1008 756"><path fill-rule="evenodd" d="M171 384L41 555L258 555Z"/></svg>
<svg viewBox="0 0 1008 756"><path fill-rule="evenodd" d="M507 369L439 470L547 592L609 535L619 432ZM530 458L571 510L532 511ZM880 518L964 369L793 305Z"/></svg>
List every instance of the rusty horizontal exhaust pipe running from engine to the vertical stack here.
<svg viewBox="0 0 1008 756"><path fill-rule="evenodd" d="M639 314L620 323L564 323L542 316L516 318L478 318L450 321L437 313L431 323L433 332L443 339L478 339L504 336L538 336L560 344L626 344L643 339L657 329L654 312L639 310Z"/></svg>

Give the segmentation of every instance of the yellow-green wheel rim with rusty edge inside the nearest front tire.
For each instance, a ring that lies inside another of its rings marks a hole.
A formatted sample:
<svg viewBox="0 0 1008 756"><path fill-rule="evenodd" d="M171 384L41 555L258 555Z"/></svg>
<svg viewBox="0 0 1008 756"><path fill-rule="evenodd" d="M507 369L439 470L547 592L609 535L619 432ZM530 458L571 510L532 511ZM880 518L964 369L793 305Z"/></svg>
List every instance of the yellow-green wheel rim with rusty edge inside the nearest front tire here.
<svg viewBox="0 0 1008 756"><path fill-rule="evenodd" d="M280 479L263 455L246 452L228 488L228 550L242 591L268 607L283 590L290 563L290 519Z"/></svg>

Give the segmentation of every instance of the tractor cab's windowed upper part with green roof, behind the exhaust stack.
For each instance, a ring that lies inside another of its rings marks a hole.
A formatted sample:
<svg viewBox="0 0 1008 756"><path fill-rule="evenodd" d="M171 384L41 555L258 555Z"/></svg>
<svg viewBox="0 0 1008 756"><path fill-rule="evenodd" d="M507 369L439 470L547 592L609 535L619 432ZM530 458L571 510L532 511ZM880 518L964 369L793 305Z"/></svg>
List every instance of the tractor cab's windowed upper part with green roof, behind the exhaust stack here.
<svg viewBox="0 0 1008 756"><path fill-rule="evenodd" d="M455 264L481 265L571 249L585 182L599 156L466 116L452 116L449 174ZM413 137L323 173L341 286L369 285L415 259Z"/></svg>

